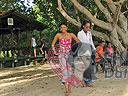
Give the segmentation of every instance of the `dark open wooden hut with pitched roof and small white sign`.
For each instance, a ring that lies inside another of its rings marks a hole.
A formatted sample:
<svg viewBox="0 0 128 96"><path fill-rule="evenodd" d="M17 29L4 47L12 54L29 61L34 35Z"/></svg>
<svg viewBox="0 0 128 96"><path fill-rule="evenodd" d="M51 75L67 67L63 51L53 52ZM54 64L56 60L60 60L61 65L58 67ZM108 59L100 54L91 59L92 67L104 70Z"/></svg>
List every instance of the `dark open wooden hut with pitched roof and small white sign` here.
<svg viewBox="0 0 128 96"><path fill-rule="evenodd" d="M35 29L42 31L45 28L47 28L47 26L41 22L14 10L6 13L0 13L0 51L7 51L8 53L10 50L16 50L18 51L17 57L20 57L21 51L23 52L27 50L26 52L28 52L29 49L27 41L21 42L21 40L25 40L25 38L27 38L27 32L32 32ZM25 36L23 37L22 34L25 34ZM27 46L23 46L23 43L26 43ZM1 66L4 60L0 60ZM7 60L14 61L14 56ZM12 66L14 67L14 64Z"/></svg>

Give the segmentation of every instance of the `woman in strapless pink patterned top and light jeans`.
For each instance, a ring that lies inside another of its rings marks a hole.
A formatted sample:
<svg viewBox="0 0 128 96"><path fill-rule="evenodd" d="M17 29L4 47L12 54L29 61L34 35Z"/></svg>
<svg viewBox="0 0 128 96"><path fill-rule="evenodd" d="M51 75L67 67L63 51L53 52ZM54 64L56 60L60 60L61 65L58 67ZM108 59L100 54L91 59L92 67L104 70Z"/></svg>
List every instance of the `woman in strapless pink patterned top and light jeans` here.
<svg viewBox="0 0 128 96"><path fill-rule="evenodd" d="M61 23L60 24L61 33L57 33L52 42L52 48L55 51L54 46L57 40L59 40L59 45L61 50L61 54L59 54L59 61L61 63L61 70L63 70L63 82L65 85L65 93L66 93L65 96L69 96L69 93L71 91L70 84L65 81L70 75L69 73L70 68L67 68L67 66L69 65L66 63L66 59L68 58L68 53L71 49L72 39L74 39L76 42L79 42L79 39L73 33L68 33L67 29L68 28L66 24Z"/></svg>

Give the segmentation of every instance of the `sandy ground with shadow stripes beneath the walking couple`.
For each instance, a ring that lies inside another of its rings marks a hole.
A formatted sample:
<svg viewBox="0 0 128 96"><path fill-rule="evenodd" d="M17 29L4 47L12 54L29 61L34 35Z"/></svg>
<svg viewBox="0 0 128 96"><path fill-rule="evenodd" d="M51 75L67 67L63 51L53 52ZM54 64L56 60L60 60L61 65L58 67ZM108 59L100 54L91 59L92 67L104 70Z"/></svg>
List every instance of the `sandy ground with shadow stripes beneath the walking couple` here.
<svg viewBox="0 0 128 96"><path fill-rule="evenodd" d="M128 96L128 79L105 79L103 73L93 88L72 88L70 96ZM0 70L0 96L64 96L63 85L48 64Z"/></svg>

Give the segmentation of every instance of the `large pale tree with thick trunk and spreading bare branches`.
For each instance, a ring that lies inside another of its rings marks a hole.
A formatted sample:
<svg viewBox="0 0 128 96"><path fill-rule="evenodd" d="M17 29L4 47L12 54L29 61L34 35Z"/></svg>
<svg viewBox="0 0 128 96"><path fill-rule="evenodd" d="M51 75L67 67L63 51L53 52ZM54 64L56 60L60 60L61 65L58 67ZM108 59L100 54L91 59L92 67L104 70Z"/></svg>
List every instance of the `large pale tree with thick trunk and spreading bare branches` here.
<svg viewBox="0 0 128 96"><path fill-rule="evenodd" d="M95 18L86 7L82 6L78 2L78 0L70 0L70 1L79 12L87 16L88 19L90 19L95 25L108 31L108 33L106 34L102 32L98 34L96 32L92 32L93 36L96 36L99 38L101 37L105 38L107 41L110 40L119 53L122 51L126 51L128 49L127 19L125 15L123 15L121 12L121 7L125 0L122 0L122 1L120 0L119 2L106 0L106 2L108 3L108 7L110 9L107 9L107 7L104 7L104 5L101 3L100 0L94 0L97 7L106 16L107 21L103 21ZM80 22L72 18L72 16L69 16L68 14L66 14L66 12L64 12L63 8L61 7L61 3L62 3L61 0L58 0L58 9L60 13L72 24L79 27ZM117 5L114 5L115 3Z"/></svg>

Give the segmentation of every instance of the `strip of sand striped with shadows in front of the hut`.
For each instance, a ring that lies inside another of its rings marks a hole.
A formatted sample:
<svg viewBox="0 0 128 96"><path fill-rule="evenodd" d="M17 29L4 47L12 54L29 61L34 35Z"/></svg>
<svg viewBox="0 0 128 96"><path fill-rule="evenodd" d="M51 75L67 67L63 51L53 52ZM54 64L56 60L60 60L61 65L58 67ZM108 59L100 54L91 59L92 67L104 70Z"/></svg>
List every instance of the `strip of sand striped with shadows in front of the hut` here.
<svg viewBox="0 0 128 96"><path fill-rule="evenodd" d="M21 67L23 68L23 67ZM9 70L9 71L8 71ZM13 82L23 79L32 79L32 78L38 78L42 76L48 76L49 74L53 74L50 68L41 66L39 67L28 67L28 68L15 68L15 69L3 69L0 72L0 84L6 83L6 82Z"/></svg>

